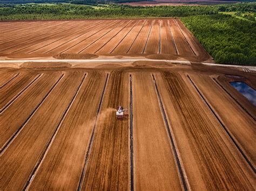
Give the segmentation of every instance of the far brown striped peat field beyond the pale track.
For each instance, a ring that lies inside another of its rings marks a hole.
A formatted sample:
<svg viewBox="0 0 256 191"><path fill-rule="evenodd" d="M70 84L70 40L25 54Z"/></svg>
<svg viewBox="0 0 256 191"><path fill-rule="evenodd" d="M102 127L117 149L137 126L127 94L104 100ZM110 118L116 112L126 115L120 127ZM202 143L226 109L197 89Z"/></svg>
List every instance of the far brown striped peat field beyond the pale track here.
<svg viewBox="0 0 256 191"><path fill-rule="evenodd" d="M69 54L210 59L193 34L173 18L0 22L0 28L0 56L5 59Z"/></svg>

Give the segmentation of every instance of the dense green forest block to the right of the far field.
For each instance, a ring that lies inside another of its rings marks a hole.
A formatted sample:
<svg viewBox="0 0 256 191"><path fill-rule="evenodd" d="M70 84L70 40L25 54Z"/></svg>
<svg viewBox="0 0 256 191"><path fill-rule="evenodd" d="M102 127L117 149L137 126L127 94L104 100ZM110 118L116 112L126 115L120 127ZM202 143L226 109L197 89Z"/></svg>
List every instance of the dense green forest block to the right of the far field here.
<svg viewBox="0 0 256 191"><path fill-rule="evenodd" d="M217 63L256 65L256 23L221 14L181 20Z"/></svg>

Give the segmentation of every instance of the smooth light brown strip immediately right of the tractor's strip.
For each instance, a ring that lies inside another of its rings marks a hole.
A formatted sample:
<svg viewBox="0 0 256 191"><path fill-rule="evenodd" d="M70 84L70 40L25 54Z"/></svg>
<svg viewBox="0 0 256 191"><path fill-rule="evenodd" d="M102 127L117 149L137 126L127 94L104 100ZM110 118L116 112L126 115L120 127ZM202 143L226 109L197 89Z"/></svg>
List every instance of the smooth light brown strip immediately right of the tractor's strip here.
<svg viewBox="0 0 256 191"><path fill-rule="evenodd" d="M152 76L132 73L132 82L134 189L182 190Z"/></svg>

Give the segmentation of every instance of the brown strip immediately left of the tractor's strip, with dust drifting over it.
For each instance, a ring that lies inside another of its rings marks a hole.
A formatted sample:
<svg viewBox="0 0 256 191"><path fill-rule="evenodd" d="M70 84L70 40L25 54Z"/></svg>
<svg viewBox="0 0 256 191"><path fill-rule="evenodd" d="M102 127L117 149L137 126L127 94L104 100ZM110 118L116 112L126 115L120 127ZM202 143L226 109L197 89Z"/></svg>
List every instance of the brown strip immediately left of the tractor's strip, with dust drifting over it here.
<svg viewBox="0 0 256 191"><path fill-rule="evenodd" d="M75 102L35 173L30 189L78 188L105 77L98 72L87 74ZM45 176L49 178L45 179Z"/></svg>

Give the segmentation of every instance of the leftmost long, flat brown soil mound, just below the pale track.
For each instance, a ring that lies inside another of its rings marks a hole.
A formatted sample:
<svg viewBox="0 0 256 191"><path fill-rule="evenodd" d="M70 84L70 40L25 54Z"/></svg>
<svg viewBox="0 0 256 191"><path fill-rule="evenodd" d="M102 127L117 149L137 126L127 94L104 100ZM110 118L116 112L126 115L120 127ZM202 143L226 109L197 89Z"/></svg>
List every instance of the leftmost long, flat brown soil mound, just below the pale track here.
<svg viewBox="0 0 256 191"><path fill-rule="evenodd" d="M21 68L69 68L71 66L67 62L24 62Z"/></svg>

